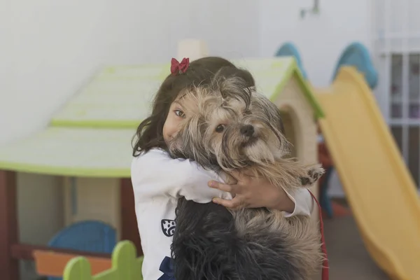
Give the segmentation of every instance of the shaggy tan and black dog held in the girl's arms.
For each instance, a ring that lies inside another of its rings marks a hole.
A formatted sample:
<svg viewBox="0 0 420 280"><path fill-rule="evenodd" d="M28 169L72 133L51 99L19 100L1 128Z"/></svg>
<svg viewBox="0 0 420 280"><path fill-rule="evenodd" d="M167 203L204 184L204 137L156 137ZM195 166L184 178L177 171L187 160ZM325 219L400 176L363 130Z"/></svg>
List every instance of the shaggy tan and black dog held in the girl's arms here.
<svg viewBox="0 0 420 280"><path fill-rule="evenodd" d="M279 109L241 78L215 77L209 87L182 92L179 103L185 121L169 144L173 158L220 174L246 169L290 193L323 174L319 165L284 157L289 144ZM308 217L179 200L172 244L176 280L309 279L321 268L320 248Z"/></svg>

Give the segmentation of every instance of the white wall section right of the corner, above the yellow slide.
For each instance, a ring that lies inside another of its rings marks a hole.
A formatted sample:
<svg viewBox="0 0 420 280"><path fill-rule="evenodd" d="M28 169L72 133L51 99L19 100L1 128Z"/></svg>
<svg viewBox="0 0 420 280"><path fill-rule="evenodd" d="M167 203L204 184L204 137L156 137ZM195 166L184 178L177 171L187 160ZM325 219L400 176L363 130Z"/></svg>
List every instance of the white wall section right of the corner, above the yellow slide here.
<svg viewBox="0 0 420 280"><path fill-rule="evenodd" d="M260 8L260 53L272 56L286 41L297 45L309 80L316 86L331 82L339 55L360 41L372 51L370 0L319 0L319 13L300 18L312 0L266 0Z"/></svg>

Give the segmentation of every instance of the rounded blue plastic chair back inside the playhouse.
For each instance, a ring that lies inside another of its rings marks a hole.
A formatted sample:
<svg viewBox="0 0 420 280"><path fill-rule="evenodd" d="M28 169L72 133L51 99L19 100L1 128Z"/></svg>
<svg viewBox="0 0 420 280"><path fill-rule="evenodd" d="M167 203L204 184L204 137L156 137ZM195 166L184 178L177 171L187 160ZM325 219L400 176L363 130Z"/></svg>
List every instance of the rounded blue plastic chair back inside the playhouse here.
<svg viewBox="0 0 420 280"><path fill-rule="evenodd" d="M116 246L116 230L101 221L80 221L59 231L48 246L92 253L112 253ZM62 277L48 277L62 280Z"/></svg>

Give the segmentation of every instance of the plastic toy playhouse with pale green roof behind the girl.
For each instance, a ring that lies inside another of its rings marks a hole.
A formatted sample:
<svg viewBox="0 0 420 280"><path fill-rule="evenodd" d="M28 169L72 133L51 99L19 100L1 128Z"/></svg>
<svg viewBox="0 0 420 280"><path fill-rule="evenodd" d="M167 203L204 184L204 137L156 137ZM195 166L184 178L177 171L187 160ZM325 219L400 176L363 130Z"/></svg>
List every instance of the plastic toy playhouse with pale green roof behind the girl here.
<svg viewBox="0 0 420 280"><path fill-rule="evenodd" d="M295 59L233 62L251 71L258 90L281 109L293 156L305 163L317 162L316 118L323 116L323 111ZM45 130L0 147L0 244L6 248L0 252L0 266L6 267L4 280L18 279L18 260L33 259L34 255L42 260L45 255L62 260L57 267L38 269L45 275L62 276L66 260L72 256L85 255L92 262L109 258L120 240L132 241L141 254L130 182L131 141L168 74L169 64L107 66L52 117ZM66 228L57 232L49 246L19 242L17 172L62 178L57 188L64 190ZM41 262L39 265L42 267ZM94 272L110 263L99 267Z"/></svg>

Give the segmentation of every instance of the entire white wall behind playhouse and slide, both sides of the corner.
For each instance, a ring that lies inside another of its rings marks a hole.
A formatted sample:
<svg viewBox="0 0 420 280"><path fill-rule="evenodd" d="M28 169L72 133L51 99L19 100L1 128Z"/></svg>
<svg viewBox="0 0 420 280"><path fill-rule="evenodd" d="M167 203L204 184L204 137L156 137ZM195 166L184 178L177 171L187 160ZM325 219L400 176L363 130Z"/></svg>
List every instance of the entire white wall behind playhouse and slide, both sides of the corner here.
<svg viewBox="0 0 420 280"><path fill-rule="evenodd" d="M351 41L371 49L370 2L311 0L0 2L0 144L48 123L103 64L168 62L181 38L202 38L212 55L272 56L300 49L314 85L328 85Z"/></svg>

